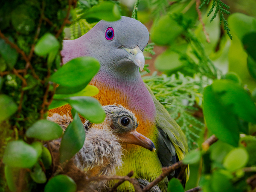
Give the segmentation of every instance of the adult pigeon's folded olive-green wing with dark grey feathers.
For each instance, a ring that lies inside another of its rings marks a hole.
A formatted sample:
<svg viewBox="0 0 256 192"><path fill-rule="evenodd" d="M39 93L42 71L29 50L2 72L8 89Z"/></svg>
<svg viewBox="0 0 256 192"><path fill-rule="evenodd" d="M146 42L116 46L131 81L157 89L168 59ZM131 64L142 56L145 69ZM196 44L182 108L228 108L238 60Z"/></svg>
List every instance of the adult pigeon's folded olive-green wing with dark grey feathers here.
<svg viewBox="0 0 256 192"><path fill-rule="evenodd" d="M153 98L157 111L156 126L159 131L158 157L163 166L171 166L175 163L176 154L178 159L182 160L188 152L186 137L177 122L172 119L168 111L156 99L148 85L145 84L145 86ZM189 169L186 170L186 180L188 180L188 177Z"/></svg>

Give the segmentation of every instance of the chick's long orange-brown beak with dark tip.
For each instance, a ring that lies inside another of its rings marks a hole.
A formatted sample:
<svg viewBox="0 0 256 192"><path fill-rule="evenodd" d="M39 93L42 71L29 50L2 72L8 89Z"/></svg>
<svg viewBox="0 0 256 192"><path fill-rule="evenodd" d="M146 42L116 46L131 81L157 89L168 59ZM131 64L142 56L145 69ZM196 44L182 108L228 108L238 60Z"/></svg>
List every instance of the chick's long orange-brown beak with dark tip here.
<svg viewBox="0 0 256 192"><path fill-rule="evenodd" d="M156 151L156 148L154 146L154 143L145 137L144 135L138 133L136 130L131 131L127 134L121 134L119 135L119 139L123 143L130 143L134 145L142 146L150 151Z"/></svg>

